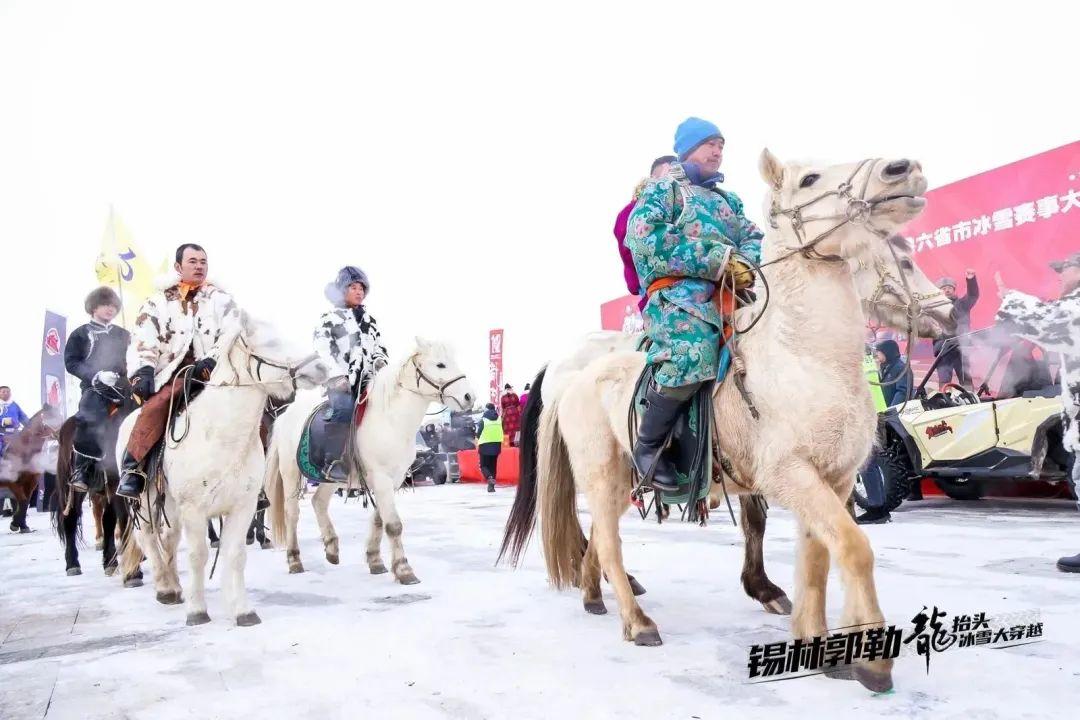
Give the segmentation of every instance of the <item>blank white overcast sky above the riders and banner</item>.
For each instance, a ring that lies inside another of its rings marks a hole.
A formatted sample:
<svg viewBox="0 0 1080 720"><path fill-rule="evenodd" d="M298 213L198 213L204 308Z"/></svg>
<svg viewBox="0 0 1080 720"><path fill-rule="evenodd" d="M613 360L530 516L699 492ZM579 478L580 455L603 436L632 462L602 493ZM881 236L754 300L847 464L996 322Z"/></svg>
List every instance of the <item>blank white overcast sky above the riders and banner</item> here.
<svg viewBox="0 0 1080 720"><path fill-rule="evenodd" d="M942 185L1080 135L1075 2L0 2L0 383L83 322L112 203L307 338L343 263L391 353L521 390L624 293L618 209L688 114L756 158L914 157Z"/></svg>

